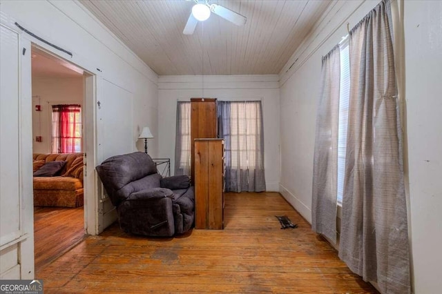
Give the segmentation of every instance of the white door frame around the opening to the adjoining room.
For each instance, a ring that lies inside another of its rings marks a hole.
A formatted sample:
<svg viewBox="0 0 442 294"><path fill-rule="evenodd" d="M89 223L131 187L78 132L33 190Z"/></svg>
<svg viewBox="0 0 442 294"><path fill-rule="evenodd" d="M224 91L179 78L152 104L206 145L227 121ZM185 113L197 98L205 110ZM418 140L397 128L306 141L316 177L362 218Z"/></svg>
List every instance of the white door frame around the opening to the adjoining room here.
<svg viewBox="0 0 442 294"><path fill-rule="evenodd" d="M14 260L17 264L6 271L1 272L2 278L8 279L34 279L35 278L35 262L34 262L34 201L32 190L32 78L31 78L31 46L36 46L40 50L44 50L55 58L64 59L73 65L82 68L88 73L84 80L85 83L85 103L87 108L85 115L86 120L86 137L85 150L86 161L84 170L84 197L86 209L84 209L84 228L86 234L97 235L98 224L102 215L99 213L97 186L98 177L95 172L97 164L97 84L102 80L101 70L98 69L93 61L90 61L81 55L68 55L52 46L40 41L39 39L28 35L20 30L14 19L9 17L1 17L0 24L2 27L17 33L18 35L18 103L19 103L19 231L14 236L6 236L4 244L0 246L2 259L8 259L12 264ZM12 249L10 249L12 248ZM16 256L12 256L14 252ZM4 254L3 254L4 253ZM11 254L12 253L12 254ZM4 260L3 260L4 261Z"/></svg>

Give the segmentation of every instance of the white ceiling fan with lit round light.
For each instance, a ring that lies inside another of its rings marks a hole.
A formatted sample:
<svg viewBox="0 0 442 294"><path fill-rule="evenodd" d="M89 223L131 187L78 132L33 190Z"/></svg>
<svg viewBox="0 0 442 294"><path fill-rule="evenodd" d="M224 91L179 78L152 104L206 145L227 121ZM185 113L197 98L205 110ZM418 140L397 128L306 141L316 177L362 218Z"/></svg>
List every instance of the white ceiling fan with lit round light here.
<svg viewBox="0 0 442 294"><path fill-rule="evenodd" d="M187 20L184 30L182 31L184 35L192 35L195 31L198 21L205 21L206 19L209 19L211 12L217 14L223 19L227 19L228 21L235 23L236 26L243 26L247 21L247 17L244 17L237 12L225 8L224 6L220 6L214 3L210 4L209 0L186 1L194 1L195 5L192 7L191 15Z"/></svg>

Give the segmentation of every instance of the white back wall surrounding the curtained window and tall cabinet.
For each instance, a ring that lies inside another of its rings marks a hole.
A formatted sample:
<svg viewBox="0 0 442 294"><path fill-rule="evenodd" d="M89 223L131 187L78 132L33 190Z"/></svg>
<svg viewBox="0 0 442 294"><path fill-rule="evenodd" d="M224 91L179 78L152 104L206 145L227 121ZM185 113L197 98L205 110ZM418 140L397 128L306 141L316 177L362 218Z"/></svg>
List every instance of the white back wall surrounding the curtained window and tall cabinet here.
<svg viewBox="0 0 442 294"><path fill-rule="evenodd" d="M266 186L269 191L278 190L280 166L277 75L205 76L204 90L202 90L201 76L161 76L158 79L158 88L159 156L171 159L171 173L175 166L175 121L178 100L190 101L192 97L229 101L261 100Z"/></svg>

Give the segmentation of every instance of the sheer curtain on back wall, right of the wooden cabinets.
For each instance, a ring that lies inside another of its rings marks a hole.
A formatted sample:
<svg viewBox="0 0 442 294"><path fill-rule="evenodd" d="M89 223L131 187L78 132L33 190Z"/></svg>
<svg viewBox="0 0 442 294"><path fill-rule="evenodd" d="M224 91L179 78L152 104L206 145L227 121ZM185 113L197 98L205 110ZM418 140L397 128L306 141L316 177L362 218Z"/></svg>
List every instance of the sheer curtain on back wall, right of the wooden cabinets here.
<svg viewBox="0 0 442 294"><path fill-rule="evenodd" d="M261 101L218 101L226 191L265 191Z"/></svg>

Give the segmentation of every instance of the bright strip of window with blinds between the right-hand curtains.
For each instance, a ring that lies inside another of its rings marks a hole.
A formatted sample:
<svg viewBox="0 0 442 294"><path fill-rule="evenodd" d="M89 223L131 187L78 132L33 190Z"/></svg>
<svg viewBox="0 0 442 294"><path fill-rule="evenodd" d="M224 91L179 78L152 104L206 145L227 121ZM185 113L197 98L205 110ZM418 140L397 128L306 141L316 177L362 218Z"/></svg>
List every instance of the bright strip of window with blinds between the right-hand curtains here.
<svg viewBox="0 0 442 294"><path fill-rule="evenodd" d="M343 202L345 153L347 146L348 107L350 95L349 46L345 40L340 45L340 83L339 83L339 126L338 126L338 203Z"/></svg>

